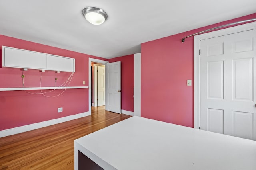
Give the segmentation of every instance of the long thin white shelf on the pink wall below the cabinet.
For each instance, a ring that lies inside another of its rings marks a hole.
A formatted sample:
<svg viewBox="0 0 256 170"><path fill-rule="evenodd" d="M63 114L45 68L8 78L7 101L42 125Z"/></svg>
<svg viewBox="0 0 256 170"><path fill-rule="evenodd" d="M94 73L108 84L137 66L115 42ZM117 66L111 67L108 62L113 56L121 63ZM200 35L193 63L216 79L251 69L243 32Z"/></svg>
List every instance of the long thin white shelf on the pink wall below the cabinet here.
<svg viewBox="0 0 256 170"><path fill-rule="evenodd" d="M18 91L18 90L53 90L53 89L75 89L89 88L88 86L68 86L68 87L21 87L21 88L0 88L0 91Z"/></svg>

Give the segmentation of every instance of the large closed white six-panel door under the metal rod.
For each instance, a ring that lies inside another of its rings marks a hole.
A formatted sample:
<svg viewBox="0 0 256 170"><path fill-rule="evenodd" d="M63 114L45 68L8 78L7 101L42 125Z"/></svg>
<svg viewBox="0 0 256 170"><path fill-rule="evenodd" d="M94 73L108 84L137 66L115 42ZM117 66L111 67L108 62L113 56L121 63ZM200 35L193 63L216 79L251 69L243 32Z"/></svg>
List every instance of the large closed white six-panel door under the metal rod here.
<svg viewBox="0 0 256 170"><path fill-rule="evenodd" d="M256 29L200 41L201 129L256 140Z"/></svg>

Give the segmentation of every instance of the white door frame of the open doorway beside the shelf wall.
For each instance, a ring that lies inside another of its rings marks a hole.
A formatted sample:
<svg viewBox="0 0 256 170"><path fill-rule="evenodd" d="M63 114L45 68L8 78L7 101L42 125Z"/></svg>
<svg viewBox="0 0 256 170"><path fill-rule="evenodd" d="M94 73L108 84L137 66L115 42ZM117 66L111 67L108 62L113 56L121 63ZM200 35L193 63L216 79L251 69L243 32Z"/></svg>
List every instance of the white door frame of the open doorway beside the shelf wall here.
<svg viewBox="0 0 256 170"><path fill-rule="evenodd" d="M95 63L101 63L106 65L106 63L108 63L108 61L105 60L100 60L100 59L94 59L94 58L89 58L89 63L88 63L88 69L89 69L89 101L88 101L88 107L89 107L89 115L92 114L92 70L91 70L91 63L95 62ZM106 74L106 73L105 73ZM106 75L105 75L106 76ZM105 98L105 102L106 102L106 98Z"/></svg>

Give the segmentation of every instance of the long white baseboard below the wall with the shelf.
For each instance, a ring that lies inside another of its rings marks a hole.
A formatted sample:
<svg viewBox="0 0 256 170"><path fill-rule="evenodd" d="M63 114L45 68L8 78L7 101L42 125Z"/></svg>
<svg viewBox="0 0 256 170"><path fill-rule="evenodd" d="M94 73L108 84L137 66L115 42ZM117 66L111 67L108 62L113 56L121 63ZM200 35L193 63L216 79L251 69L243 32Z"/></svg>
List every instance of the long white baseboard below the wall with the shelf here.
<svg viewBox="0 0 256 170"><path fill-rule="evenodd" d="M34 129L38 129L38 128L46 127L46 126L50 126L50 125L55 125L55 124L58 124L58 123L78 119L78 118L89 116L89 115L90 115L89 112L84 112L84 113L79 113L79 114L76 114L76 115L61 117L61 118L58 118L58 119L52 119L52 120L48 120L48 121L42 121L42 122L39 122L39 123L33 123L33 124L30 124L30 125L24 125L24 126L20 126L20 127L14 127L14 128L11 128L11 129L5 129L5 130L0 131L0 137L15 135L15 134L18 134L18 133L31 131L31 130L34 130Z"/></svg>

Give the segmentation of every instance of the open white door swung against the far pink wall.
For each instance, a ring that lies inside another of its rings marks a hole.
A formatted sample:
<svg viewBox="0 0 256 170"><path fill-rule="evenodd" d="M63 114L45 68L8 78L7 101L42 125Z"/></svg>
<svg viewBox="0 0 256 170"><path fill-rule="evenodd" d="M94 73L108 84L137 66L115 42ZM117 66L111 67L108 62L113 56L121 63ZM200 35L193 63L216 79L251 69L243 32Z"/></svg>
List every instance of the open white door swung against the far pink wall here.
<svg viewBox="0 0 256 170"><path fill-rule="evenodd" d="M121 113L121 61L106 64L105 109Z"/></svg>

